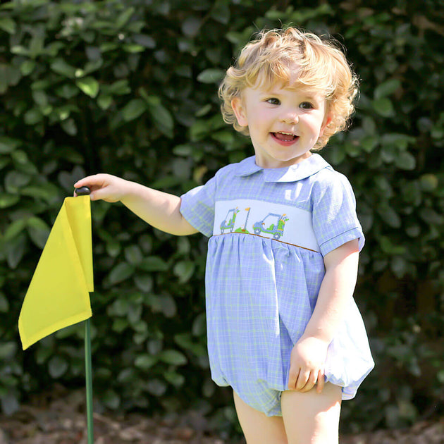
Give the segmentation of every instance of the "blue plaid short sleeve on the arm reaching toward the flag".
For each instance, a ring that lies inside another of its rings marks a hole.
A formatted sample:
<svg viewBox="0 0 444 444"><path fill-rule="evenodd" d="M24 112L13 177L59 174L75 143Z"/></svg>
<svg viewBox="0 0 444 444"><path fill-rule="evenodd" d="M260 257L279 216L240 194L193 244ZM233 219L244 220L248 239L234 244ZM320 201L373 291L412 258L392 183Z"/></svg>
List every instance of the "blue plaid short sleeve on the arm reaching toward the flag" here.
<svg viewBox="0 0 444 444"><path fill-rule="evenodd" d="M196 230L209 238L213 234L216 178L180 196L180 213Z"/></svg>

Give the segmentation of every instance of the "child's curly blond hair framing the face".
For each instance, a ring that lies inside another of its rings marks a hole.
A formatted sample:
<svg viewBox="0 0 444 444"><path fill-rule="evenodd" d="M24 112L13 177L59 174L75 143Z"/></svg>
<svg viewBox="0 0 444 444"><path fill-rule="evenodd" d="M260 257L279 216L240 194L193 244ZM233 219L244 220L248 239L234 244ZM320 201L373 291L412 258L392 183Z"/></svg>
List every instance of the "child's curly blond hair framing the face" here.
<svg viewBox="0 0 444 444"><path fill-rule="evenodd" d="M324 147L332 135L347 128L358 93L357 75L337 41L321 39L295 27L264 30L242 49L219 86L223 120L248 135L248 128L238 124L231 101L241 97L245 87L257 86L258 81L266 85L276 82L290 85L295 65L298 78L291 87L308 88L326 97L326 113L331 121L313 149Z"/></svg>

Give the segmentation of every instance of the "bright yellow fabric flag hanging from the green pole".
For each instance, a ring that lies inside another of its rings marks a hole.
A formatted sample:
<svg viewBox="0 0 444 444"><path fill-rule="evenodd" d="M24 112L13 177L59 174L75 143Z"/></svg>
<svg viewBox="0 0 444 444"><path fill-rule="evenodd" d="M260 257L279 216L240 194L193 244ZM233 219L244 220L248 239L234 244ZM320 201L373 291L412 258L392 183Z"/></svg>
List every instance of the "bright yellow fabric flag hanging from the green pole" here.
<svg viewBox="0 0 444 444"><path fill-rule="evenodd" d="M90 196L66 197L27 289L18 331L23 350L92 316Z"/></svg>

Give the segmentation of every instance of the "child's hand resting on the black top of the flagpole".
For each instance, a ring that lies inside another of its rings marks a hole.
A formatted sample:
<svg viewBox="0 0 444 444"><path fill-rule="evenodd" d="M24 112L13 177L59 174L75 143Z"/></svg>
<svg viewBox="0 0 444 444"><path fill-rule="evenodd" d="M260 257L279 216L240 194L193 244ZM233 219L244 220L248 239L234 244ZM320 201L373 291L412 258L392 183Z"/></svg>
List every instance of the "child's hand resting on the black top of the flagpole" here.
<svg viewBox="0 0 444 444"><path fill-rule="evenodd" d="M118 202L125 195L128 181L111 174L95 174L78 180L74 186L76 188L89 187L91 200Z"/></svg>

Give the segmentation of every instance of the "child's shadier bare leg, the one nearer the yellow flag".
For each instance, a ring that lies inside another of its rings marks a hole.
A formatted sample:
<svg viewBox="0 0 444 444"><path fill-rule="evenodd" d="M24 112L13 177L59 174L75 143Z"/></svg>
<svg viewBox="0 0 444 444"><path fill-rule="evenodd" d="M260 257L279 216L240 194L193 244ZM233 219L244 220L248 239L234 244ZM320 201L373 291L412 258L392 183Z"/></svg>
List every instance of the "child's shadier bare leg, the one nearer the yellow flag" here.
<svg viewBox="0 0 444 444"><path fill-rule="evenodd" d="M233 392L236 412L247 444L287 444L282 417L267 417Z"/></svg>

